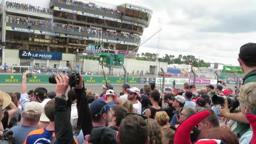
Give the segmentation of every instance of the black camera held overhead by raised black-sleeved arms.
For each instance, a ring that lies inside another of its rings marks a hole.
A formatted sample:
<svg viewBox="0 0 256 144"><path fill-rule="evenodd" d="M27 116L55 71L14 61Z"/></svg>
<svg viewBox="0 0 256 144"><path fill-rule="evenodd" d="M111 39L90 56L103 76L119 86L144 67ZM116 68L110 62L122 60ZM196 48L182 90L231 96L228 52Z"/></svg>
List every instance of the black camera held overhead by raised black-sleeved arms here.
<svg viewBox="0 0 256 144"><path fill-rule="evenodd" d="M64 75L67 75L69 77L69 86L70 87L76 87L79 84L79 72L76 71L67 71L64 73ZM49 76L49 82L51 84L57 84L55 78L57 77L57 74L51 74Z"/></svg>

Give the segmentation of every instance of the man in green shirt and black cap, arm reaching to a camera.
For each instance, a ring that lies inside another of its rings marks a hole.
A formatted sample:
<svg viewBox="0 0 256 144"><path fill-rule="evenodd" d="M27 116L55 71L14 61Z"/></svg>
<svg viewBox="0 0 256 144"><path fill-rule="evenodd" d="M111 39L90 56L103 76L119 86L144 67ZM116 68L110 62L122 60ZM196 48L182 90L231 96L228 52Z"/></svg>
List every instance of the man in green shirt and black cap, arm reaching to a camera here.
<svg viewBox="0 0 256 144"><path fill-rule="evenodd" d="M243 85L256 82L256 43L250 42L241 46L237 60L246 74L243 78ZM250 124L242 112L230 113L227 104L224 108L218 107L218 110L225 118L238 122L236 132L239 138L250 128Z"/></svg>

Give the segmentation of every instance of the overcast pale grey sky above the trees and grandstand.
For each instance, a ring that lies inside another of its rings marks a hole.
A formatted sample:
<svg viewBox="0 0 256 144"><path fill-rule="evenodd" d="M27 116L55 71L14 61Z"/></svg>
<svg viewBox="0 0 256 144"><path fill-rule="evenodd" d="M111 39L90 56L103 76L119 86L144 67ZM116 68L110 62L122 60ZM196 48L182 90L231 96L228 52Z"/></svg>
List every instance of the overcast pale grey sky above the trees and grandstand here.
<svg viewBox="0 0 256 144"><path fill-rule="evenodd" d="M206 62L238 65L239 48L256 42L256 0L108 0L131 3L153 10L142 42L160 28L163 21L160 56L194 55ZM139 48L156 52L158 36Z"/></svg>

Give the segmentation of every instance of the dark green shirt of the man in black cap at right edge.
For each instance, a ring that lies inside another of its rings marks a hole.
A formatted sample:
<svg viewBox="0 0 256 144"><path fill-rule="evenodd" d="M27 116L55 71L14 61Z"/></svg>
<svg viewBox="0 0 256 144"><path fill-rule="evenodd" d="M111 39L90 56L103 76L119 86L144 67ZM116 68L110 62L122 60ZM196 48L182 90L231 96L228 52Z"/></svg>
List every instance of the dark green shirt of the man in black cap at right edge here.
<svg viewBox="0 0 256 144"><path fill-rule="evenodd" d="M255 74L255 75L254 75ZM248 74L246 74L243 78L243 85L247 84L249 82L256 82L256 69L250 71ZM250 124L244 124L242 122L237 122L237 136L241 138L241 136L248 131L250 128Z"/></svg>

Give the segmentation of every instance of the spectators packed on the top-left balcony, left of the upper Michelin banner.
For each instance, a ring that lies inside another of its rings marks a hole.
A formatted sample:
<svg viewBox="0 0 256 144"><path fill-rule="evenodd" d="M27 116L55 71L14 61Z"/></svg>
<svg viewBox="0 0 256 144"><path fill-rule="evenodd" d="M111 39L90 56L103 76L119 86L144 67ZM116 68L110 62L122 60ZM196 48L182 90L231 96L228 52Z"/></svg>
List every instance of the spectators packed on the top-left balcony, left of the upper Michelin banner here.
<svg viewBox="0 0 256 144"><path fill-rule="evenodd" d="M10 2L6 1L6 6L7 8L13 8L16 10L24 10L24 11L29 11L29 12L37 12L40 14L49 14L50 9L49 8L44 8L41 6L33 6L31 4L24 4L24 3L18 3L18 2Z"/></svg>

